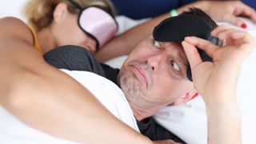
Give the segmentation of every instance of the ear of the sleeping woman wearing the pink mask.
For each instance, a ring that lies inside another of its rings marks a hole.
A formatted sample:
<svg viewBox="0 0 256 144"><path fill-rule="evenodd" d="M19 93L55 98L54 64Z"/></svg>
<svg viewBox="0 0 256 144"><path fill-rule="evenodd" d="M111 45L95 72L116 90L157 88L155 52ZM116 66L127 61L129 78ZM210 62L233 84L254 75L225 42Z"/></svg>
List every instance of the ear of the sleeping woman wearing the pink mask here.
<svg viewBox="0 0 256 144"><path fill-rule="evenodd" d="M54 22L62 22L62 20L66 17L66 14L68 14L66 3L58 3L54 9Z"/></svg>

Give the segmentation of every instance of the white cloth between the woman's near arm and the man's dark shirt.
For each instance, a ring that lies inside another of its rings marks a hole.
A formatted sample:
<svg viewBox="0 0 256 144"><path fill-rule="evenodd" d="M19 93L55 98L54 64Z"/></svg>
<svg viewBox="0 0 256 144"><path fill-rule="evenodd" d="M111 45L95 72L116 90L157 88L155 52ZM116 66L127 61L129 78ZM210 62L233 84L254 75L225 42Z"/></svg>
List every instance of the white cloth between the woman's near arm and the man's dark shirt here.
<svg viewBox="0 0 256 144"><path fill-rule="evenodd" d="M110 80L87 71L62 70L90 90L114 116L128 126L138 130L134 114L122 90Z"/></svg>

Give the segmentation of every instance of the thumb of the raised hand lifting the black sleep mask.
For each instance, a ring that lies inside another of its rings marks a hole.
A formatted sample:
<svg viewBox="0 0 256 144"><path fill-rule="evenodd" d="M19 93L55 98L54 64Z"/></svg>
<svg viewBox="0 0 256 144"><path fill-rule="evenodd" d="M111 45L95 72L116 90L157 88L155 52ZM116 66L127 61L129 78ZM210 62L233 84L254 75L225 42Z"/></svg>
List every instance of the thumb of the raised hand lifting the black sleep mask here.
<svg viewBox="0 0 256 144"><path fill-rule="evenodd" d="M202 58L198 54L198 50L196 49L196 47L194 47L190 43L183 41L182 46L185 51L186 58L190 62L190 67L193 70L195 66L198 66L198 64L202 63Z"/></svg>

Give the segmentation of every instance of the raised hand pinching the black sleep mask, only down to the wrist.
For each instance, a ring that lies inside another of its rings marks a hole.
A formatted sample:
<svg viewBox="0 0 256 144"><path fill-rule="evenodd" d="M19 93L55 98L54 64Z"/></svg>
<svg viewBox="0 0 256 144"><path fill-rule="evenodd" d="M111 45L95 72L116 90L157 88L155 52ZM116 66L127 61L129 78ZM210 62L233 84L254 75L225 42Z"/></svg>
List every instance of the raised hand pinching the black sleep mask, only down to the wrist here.
<svg viewBox="0 0 256 144"><path fill-rule="evenodd" d="M243 58L255 45L254 39L246 32L234 30L230 26L218 26L212 35L225 40L219 47L202 38L187 37L182 42L190 62L194 86L206 106L235 102L235 89L239 68ZM205 50L213 62L202 62L197 48Z"/></svg>

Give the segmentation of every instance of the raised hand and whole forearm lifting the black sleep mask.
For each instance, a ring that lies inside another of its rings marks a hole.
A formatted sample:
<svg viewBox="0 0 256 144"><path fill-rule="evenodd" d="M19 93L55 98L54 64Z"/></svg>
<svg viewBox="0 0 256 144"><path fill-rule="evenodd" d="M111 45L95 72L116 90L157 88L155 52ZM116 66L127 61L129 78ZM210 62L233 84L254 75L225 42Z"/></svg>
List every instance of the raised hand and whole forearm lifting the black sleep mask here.
<svg viewBox="0 0 256 144"><path fill-rule="evenodd" d="M182 42L190 62L195 89L206 103L208 143L242 143L241 114L236 102L236 83L243 58L255 45L246 32L219 26L212 35L226 40L215 46L201 39L188 37ZM205 50L213 62L202 62L196 49Z"/></svg>

